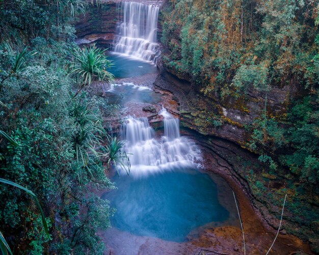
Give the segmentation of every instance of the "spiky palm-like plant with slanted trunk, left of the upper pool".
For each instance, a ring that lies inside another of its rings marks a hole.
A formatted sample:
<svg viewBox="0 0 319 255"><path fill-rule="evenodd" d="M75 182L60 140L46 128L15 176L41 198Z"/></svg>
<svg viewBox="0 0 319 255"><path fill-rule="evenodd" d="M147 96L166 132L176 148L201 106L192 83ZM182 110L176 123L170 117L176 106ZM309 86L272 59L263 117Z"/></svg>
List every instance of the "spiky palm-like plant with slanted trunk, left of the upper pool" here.
<svg viewBox="0 0 319 255"><path fill-rule="evenodd" d="M72 52L74 62L70 66L71 73L81 79L81 84L74 97L95 80L103 80L109 83L114 80L114 75L106 70L112 66L112 62L105 56L105 51L106 49L98 49L95 44L92 44L90 47L83 49L76 48Z"/></svg>

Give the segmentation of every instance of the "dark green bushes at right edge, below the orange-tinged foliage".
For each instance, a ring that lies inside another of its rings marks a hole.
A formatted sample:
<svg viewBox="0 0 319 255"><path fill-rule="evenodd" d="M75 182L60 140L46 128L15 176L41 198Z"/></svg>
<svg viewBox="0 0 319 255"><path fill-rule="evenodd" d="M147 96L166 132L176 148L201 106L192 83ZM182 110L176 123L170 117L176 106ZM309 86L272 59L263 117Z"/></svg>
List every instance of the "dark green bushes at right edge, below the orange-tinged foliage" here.
<svg viewBox="0 0 319 255"><path fill-rule="evenodd" d="M316 96L297 101L287 114L285 125L264 116L253 124L249 148L259 151L261 162L269 162L275 170L280 163L296 174L305 187L319 192L319 111ZM275 161L279 161L276 163Z"/></svg>

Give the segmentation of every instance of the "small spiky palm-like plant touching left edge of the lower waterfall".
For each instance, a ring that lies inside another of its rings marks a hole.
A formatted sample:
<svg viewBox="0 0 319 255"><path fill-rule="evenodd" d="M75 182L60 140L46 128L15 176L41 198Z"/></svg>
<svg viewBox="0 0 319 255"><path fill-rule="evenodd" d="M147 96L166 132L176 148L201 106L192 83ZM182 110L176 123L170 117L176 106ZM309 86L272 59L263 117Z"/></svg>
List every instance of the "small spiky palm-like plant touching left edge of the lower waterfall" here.
<svg viewBox="0 0 319 255"><path fill-rule="evenodd" d="M126 152L123 150L124 144L125 141L118 140L116 137L108 136L108 144L102 148L103 153L101 156L106 158L109 170L111 168L111 164L113 164L116 166L117 172L118 166L120 166L128 175L130 172L130 162Z"/></svg>

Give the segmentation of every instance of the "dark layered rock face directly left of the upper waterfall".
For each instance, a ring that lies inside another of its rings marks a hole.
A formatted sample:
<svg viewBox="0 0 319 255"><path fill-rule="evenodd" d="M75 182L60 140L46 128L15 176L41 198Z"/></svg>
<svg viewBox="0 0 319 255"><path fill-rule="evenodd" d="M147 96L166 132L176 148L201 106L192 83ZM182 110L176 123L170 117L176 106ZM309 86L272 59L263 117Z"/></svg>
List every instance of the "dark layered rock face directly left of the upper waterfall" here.
<svg viewBox="0 0 319 255"><path fill-rule="evenodd" d="M99 47L112 48L116 36L117 23L120 20L117 4L105 3L99 8L91 7L86 15L79 15L75 23L76 43L95 42Z"/></svg>

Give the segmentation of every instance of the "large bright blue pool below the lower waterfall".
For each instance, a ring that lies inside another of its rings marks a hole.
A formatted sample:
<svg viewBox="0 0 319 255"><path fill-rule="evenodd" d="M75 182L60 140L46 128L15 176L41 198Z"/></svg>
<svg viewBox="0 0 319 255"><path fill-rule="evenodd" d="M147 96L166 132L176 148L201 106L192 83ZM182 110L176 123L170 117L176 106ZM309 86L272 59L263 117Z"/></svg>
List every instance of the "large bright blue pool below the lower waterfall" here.
<svg viewBox="0 0 319 255"><path fill-rule="evenodd" d="M118 189L103 195L117 210L112 225L134 235L183 242L198 226L229 216L215 182L197 169L117 176L114 181Z"/></svg>

